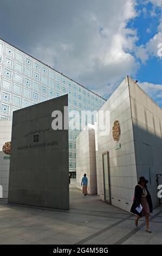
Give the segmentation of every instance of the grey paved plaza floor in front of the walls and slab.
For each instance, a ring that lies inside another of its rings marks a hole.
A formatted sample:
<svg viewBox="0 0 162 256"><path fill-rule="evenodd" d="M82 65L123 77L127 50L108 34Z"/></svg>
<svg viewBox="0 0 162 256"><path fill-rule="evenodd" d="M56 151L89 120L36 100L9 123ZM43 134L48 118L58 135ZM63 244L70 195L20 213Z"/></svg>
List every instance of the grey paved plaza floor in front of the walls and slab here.
<svg viewBox="0 0 162 256"><path fill-rule="evenodd" d="M98 196L82 196L70 188L70 210L48 210L9 205L0 200L0 244L18 245L121 245L162 244L162 207L151 215L151 230L144 218L134 226L134 216L102 202Z"/></svg>

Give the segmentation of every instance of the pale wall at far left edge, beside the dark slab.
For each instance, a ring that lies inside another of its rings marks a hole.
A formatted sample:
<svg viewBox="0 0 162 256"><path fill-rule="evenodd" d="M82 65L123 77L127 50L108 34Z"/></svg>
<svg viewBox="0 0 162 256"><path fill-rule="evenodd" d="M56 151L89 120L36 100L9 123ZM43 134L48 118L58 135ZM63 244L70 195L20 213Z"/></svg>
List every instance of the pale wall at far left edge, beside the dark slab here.
<svg viewBox="0 0 162 256"><path fill-rule="evenodd" d="M11 121L0 121L0 185L3 187L3 198L8 198L10 160L2 148L5 142L11 141L11 130Z"/></svg>

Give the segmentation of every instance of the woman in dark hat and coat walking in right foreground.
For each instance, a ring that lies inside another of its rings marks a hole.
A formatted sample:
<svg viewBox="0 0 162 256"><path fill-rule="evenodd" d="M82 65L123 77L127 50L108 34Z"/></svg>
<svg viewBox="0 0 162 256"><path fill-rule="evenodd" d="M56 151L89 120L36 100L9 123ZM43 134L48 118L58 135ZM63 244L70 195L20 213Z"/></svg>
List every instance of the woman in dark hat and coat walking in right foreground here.
<svg viewBox="0 0 162 256"><path fill-rule="evenodd" d="M134 199L133 199L133 205L131 208L131 212L137 217L135 217L135 226L138 227L138 220L139 218L145 216L146 218L146 231L148 233L151 233L150 227L149 227L149 218L150 213L152 212L152 199L151 195L148 192L147 184L148 180L145 179L145 177L140 177L138 184L135 186L134 191ZM141 212L138 212L136 209L140 208L140 204L142 206Z"/></svg>

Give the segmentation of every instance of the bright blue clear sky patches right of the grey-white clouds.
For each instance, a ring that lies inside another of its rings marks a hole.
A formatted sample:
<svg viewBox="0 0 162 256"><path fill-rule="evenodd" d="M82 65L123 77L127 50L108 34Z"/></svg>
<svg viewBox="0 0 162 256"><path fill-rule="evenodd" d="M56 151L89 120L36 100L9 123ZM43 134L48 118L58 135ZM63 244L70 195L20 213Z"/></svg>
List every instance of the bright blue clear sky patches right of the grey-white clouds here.
<svg viewBox="0 0 162 256"><path fill-rule="evenodd" d="M147 44L149 44L150 40L152 40L155 35L161 33L161 7L162 1L160 0L137 1L135 9L137 10L138 16L128 23L128 27L137 30L138 40L135 44L137 47L143 46L147 48ZM161 39L161 36L159 37ZM160 41L155 42L154 48L157 47L158 43L160 43ZM159 87L157 90L154 90L157 84L158 86L162 84L162 59L158 54L155 54L155 51L152 50L152 52L147 53L147 56L150 56L146 62L142 62L139 58L137 59L140 63L137 71L137 80L141 82L141 87L150 94L158 105L162 106L162 90L159 90ZM145 82L145 85L142 84L142 82ZM148 83L148 88L146 82ZM152 90L149 85L152 85ZM158 95L159 93L160 97Z"/></svg>

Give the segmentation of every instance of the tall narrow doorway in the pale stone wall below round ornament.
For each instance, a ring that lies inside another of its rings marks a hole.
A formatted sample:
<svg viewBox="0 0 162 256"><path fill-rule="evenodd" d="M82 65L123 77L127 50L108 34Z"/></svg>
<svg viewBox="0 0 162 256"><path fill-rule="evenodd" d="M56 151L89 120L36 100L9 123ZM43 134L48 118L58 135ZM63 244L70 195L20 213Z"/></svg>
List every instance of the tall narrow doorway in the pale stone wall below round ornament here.
<svg viewBox="0 0 162 256"><path fill-rule="evenodd" d="M104 196L105 202L111 204L111 189L110 189L110 177L108 168L108 152L102 154L103 163L103 184L104 184Z"/></svg>

